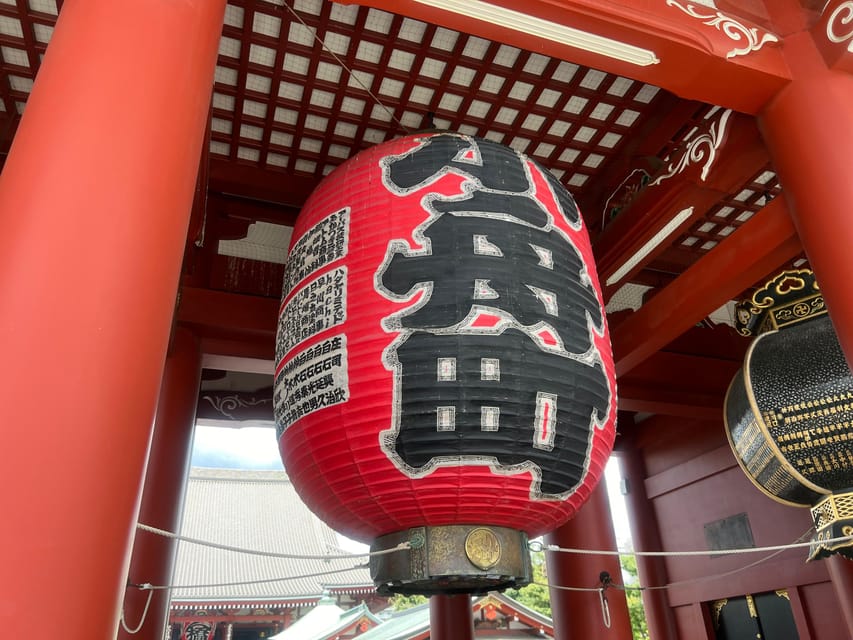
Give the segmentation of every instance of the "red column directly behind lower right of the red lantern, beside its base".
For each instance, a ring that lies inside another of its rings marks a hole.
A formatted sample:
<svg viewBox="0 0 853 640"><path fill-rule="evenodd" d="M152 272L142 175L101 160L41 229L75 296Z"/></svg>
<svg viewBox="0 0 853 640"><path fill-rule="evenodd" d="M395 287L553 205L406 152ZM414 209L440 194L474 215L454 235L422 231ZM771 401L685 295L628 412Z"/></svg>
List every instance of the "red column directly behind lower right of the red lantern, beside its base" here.
<svg viewBox="0 0 853 640"><path fill-rule="evenodd" d="M548 545L567 549L616 550L616 536L604 482L592 492L578 514L546 536ZM625 593L606 590L610 628L605 625L600 597L596 591L567 591L555 587L595 588L602 571L622 584L622 570L616 556L549 551L546 553L548 582L551 584L551 617L555 640L631 640L631 619Z"/></svg>

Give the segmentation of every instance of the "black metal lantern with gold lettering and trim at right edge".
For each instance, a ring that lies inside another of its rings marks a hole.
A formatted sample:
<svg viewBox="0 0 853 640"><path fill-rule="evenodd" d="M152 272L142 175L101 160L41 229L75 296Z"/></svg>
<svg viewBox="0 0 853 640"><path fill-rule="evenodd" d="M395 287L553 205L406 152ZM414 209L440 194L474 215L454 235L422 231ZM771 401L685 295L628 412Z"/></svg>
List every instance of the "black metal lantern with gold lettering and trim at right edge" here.
<svg viewBox="0 0 853 640"><path fill-rule="evenodd" d="M786 271L737 306L757 335L725 402L726 434L765 494L811 507L809 560L853 558L853 377L809 270Z"/></svg>

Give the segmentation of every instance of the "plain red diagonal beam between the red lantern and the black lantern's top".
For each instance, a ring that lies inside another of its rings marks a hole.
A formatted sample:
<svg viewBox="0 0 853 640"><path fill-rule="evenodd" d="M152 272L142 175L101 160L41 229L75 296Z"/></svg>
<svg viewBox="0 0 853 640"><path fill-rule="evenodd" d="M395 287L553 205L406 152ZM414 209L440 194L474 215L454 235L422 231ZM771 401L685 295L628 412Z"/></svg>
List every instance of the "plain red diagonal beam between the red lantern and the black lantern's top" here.
<svg viewBox="0 0 853 640"><path fill-rule="evenodd" d="M613 330L617 375L801 251L788 208L776 198Z"/></svg>

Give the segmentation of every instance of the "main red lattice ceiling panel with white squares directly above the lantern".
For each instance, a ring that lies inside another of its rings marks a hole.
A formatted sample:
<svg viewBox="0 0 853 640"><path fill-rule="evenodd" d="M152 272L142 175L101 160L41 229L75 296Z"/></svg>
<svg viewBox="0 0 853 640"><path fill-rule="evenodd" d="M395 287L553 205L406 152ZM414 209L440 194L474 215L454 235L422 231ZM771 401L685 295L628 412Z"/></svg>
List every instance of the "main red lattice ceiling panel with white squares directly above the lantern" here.
<svg viewBox="0 0 853 640"><path fill-rule="evenodd" d="M211 153L321 177L364 147L436 127L508 144L578 189L660 93L376 9L233 0Z"/></svg>

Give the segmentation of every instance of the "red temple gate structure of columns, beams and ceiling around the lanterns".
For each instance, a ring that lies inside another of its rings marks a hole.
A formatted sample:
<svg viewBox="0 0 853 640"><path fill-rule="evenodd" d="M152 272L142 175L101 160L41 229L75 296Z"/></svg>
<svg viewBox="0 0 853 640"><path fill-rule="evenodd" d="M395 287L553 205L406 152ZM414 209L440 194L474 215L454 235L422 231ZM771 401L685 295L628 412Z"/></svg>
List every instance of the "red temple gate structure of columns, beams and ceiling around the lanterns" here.
<svg viewBox="0 0 853 640"><path fill-rule="evenodd" d="M0 0L0 628L128 637L127 583L170 580L173 543L136 524L176 527L202 380L272 377L300 207L423 129L509 145L577 199L636 548L800 540L808 510L726 442L748 346L727 320L808 268L853 361L851 71L849 0ZM603 487L546 543L613 549ZM665 587L652 637L853 637L850 561L768 556L639 558ZM630 638L595 589L615 558L549 562L556 638ZM471 637L470 611L433 598L432 637ZM135 637L166 615L160 591Z"/></svg>

